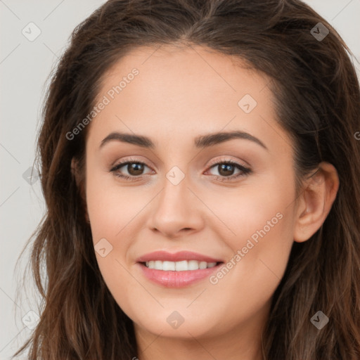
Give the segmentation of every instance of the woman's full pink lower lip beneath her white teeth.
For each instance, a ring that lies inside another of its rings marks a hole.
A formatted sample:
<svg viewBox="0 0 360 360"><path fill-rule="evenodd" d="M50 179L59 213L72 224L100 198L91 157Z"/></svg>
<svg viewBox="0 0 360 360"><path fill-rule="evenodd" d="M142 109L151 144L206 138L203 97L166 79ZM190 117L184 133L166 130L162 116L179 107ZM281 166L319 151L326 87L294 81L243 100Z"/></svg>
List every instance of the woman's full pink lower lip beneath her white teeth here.
<svg viewBox="0 0 360 360"><path fill-rule="evenodd" d="M165 286L166 288L183 288L184 286L196 283L204 278L208 278L214 271L219 270L219 267L223 263L219 263L214 267L198 270L186 270L186 271L163 271L149 269L144 264L138 262L143 274L150 281L157 283L158 285Z"/></svg>

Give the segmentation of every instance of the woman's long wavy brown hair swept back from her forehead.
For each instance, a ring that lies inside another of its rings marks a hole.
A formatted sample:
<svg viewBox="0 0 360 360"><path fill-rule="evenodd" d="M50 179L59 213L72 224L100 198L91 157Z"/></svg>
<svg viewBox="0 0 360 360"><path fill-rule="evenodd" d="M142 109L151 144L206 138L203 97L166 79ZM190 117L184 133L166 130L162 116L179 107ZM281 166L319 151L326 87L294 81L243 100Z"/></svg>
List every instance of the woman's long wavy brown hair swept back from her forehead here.
<svg viewBox="0 0 360 360"><path fill-rule="evenodd" d="M319 26L321 34L328 30L323 39L314 36ZM359 360L359 81L339 34L298 0L110 0L75 28L51 79L38 139L47 212L32 236L31 264L40 320L15 355L30 347L32 360L137 356L132 321L98 269L70 171L75 158L84 175L87 128L71 140L66 134L91 112L103 75L117 60L137 46L162 44L207 46L272 79L278 123L293 139L299 187L321 161L338 170L338 195L323 226L293 244L262 351L268 360ZM310 321L319 310L330 319L321 330Z"/></svg>

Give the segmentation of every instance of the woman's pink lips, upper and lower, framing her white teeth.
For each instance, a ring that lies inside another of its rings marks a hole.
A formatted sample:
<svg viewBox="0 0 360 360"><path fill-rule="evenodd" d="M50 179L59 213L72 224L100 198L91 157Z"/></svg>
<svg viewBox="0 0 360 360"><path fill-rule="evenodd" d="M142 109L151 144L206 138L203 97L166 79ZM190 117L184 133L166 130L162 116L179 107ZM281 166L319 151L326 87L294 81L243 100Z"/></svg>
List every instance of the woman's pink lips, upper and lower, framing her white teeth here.
<svg viewBox="0 0 360 360"><path fill-rule="evenodd" d="M143 264L151 260L161 260L169 262L179 262L182 260L197 260L198 262L217 262L216 266L209 269L198 269L188 271L163 271L149 269ZM214 271L218 271L219 267L223 264L221 259L214 259L206 255L197 254L196 252L181 251L174 254L165 251L155 251L143 255L136 259L138 266L140 266L143 275L150 281L158 285L165 286L166 288L182 288L191 285L204 278L208 278Z"/></svg>

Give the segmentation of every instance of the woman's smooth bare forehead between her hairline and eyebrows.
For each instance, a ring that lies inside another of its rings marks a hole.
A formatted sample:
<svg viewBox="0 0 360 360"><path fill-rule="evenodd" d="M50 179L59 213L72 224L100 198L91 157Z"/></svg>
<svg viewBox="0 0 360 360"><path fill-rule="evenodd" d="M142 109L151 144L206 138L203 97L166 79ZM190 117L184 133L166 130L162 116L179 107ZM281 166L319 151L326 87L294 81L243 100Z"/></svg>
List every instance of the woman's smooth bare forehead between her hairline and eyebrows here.
<svg viewBox="0 0 360 360"><path fill-rule="evenodd" d="M240 129L286 150L290 139L276 122L269 82L244 61L203 46L140 47L105 73L96 103L108 104L92 120L89 141L99 145L118 130L175 146Z"/></svg>

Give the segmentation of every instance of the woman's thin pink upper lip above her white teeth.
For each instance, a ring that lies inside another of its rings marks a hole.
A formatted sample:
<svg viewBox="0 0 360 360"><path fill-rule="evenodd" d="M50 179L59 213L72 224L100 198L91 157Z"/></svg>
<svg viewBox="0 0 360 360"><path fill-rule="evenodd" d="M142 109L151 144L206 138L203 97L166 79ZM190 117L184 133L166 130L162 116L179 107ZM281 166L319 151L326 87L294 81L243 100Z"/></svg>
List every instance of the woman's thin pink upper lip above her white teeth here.
<svg viewBox="0 0 360 360"><path fill-rule="evenodd" d="M221 259L214 259L213 257L198 254L197 252L180 251L171 253L163 250L149 252L146 255L138 257L136 262L150 262L152 260L161 260L163 262L179 262L183 260L198 260L198 262L222 262Z"/></svg>

